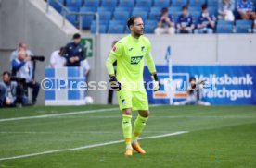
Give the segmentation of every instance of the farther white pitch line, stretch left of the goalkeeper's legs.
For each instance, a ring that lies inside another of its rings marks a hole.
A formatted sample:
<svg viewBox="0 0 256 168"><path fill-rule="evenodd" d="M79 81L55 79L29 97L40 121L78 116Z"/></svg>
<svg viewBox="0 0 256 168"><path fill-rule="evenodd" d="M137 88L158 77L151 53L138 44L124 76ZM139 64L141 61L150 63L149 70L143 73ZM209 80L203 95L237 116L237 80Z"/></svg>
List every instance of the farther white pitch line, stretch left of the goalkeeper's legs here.
<svg viewBox="0 0 256 168"><path fill-rule="evenodd" d="M70 113L63 113L63 114L43 114L43 115L35 115L35 116L22 116L22 117L15 117L15 118L0 119L0 122L27 120L27 119L35 119L35 118L48 118L48 117L64 116L64 115L72 115L72 114L93 114L93 113L98 113L98 112L116 111L116 110L119 110L119 108L88 110L88 111L70 112Z"/></svg>

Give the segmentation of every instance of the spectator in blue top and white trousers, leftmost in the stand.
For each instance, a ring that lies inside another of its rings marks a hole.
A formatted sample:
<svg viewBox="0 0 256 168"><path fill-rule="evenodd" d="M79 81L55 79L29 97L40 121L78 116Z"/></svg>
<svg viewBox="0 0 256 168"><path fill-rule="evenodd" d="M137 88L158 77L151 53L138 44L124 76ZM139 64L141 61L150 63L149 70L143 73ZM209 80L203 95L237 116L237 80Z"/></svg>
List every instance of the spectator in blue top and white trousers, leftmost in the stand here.
<svg viewBox="0 0 256 168"><path fill-rule="evenodd" d="M161 15L159 18L158 27L155 30L155 34L174 34L175 33L175 23L173 21L173 16L168 14L168 9L163 7L161 9Z"/></svg>

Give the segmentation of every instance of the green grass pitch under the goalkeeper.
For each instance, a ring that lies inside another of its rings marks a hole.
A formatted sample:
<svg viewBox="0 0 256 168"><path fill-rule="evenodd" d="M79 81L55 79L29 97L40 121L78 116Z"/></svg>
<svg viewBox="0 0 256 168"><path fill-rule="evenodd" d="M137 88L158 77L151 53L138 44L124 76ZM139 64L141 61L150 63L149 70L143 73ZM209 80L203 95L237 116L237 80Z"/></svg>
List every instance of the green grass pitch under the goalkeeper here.
<svg viewBox="0 0 256 168"><path fill-rule="evenodd" d="M141 137L178 131L187 133L142 139L147 154L127 158L123 143L104 145L122 140L122 113L117 106L1 109L0 168L256 167L256 106L150 107ZM102 146L65 150L95 144ZM42 154L52 150L62 151ZM33 153L41 154L13 158Z"/></svg>

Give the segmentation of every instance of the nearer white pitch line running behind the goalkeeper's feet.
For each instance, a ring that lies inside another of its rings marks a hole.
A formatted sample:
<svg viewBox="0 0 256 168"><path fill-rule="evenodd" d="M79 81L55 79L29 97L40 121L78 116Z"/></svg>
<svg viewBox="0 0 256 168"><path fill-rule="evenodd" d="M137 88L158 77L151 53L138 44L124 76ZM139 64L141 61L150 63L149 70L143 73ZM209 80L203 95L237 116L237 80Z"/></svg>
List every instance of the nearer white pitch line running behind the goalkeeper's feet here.
<svg viewBox="0 0 256 168"><path fill-rule="evenodd" d="M171 137L171 136L176 136L176 135L185 134L185 133L188 133L188 131L178 131L178 132L173 132L173 133L169 133L169 134L162 134L162 135L159 135L159 136L151 136L151 137L145 137L145 138L140 138L140 139L165 138L165 137ZM105 143L86 145L86 146L83 146L83 147L77 147L77 148L72 148L72 149L48 150L48 151L43 151L43 152L38 152L38 153L31 153L31 154L24 154L24 155L19 155L19 156L0 158L0 161L13 160L13 159L19 159L19 158L28 158L28 157L32 157L32 156L51 154L51 153L56 153L56 152L61 152L61 151L91 149L91 148L96 148L96 147L112 145L112 144L118 144L118 143L122 143L122 142L123 142L123 140L115 140L115 141L109 141L109 142L105 142Z"/></svg>

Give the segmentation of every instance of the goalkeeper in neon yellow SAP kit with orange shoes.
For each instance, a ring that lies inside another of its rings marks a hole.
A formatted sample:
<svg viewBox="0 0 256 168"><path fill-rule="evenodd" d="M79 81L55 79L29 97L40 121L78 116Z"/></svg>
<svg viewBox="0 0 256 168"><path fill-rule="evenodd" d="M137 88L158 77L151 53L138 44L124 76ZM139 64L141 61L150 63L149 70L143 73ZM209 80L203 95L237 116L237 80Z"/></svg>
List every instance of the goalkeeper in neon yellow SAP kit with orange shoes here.
<svg viewBox="0 0 256 168"><path fill-rule="evenodd" d="M155 63L151 55L151 44L143 36L144 24L142 18L129 18L127 26L131 34L122 38L112 48L106 62L109 72L110 87L117 90L120 109L122 110L122 131L125 139L125 155L133 155L133 149L145 154L137 139L146 126L148 112L147 93L143 82L144 58L152 75L153 90L160 90L160 82L156 73ZM117 61L117 76L113 63ZM138 111L132 131L132 111Z"/></svg>

